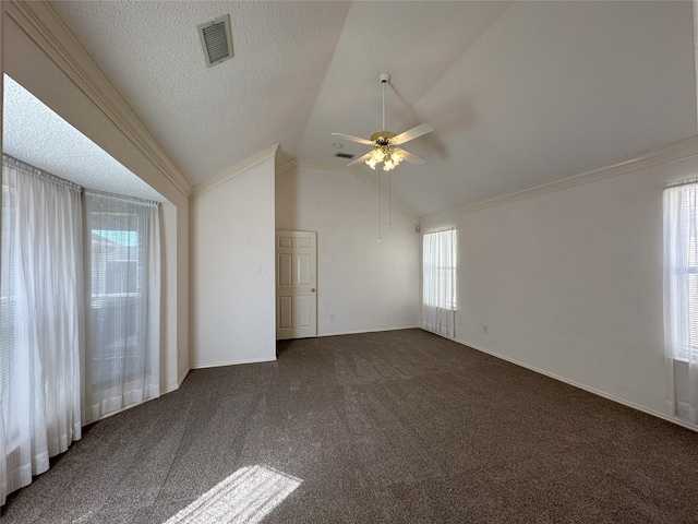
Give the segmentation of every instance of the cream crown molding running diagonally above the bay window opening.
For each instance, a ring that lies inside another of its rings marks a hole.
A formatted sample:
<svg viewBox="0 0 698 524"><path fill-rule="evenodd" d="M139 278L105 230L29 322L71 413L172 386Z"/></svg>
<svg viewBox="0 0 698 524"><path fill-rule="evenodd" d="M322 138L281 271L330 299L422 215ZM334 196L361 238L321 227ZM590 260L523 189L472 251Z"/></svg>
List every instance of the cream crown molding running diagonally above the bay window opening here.
<svg viewBox="0 0 698 524"><path fill-rule="evenodd" d="M189 198L191 186L121 94L46 1L3 2L10 16L148 160Z"/></svg>

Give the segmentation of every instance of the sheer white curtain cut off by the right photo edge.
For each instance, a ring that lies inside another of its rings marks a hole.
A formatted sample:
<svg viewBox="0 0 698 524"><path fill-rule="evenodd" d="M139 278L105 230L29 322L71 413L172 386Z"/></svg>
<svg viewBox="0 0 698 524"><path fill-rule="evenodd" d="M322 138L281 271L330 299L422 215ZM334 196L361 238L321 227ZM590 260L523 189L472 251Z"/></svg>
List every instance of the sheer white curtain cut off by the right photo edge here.
<svg viewBox="0 0 698 524"><path fill-rule="evenodd" d="M698 182L664 190L667 407L698 424Z"/></svg>

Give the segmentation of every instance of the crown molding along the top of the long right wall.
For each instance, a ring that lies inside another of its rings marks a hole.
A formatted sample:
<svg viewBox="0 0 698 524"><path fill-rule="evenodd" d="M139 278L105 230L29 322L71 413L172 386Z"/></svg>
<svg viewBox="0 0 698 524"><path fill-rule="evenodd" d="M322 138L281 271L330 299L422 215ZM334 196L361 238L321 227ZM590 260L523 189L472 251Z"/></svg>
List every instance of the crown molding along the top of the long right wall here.
<svg viewBox="0 0 698 524"><path fill-rule="evenodd" d="M440 221L456 215L464 215L488 207L494 207L496 205L516 202L517 200L530 199L541 194L562 191L565 189L581 186L583 183L590 183L598 180L603 180L605 178L627 175L634 171L639 171L641 169L647 169L650 167L667 164L670 162L682 160L694 156L698 156L698 135L678 140L676 142L671 142L659 147L653 147L651 150L627 156L619 160L604 164L602 166L597 166L591 169L586 169L583 171L578 171L566 177L556 178L547 182L537 183L535 186L529 186L528 188L512 191L493 199L480 200L478 202L471 202L468 204L459 205L457 207L452 207L449 210L431 213L429 215L422 215L420 216L419 221L420 224L425 224L432 221Z"/></svg>

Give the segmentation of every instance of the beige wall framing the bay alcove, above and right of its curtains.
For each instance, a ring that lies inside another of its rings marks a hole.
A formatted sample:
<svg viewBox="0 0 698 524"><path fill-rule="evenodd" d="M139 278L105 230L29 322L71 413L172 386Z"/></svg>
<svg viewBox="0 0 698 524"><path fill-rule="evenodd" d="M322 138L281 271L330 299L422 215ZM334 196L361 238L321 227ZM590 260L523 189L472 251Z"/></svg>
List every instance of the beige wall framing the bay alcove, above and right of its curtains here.
<svg viewBox="0 0 698 524"><path fill-rule="evenodd" d="M75 45L72 35L62 24L56 23L50 9L41 3L14 5L1 2L1 5L5 11L2 27L3 72L169 201L163 209L165 307L160 390L173 390L189 370L188 196L156 165L154 158L157 155L154 156L152 152L146 154L147 146L127 134L124 121L120 121L112 112L115 108L118 110L123 100L113 95L113 87L100 76L84 50ZM37 20L46 24L40 32L29 22L31 19L23 16L28 9L35 10ZM45 37L49 32L51 39L47 40ZM64 46L62 52L58 52L56 43ZM80 74L75 68L80 68ZM79 85L80 82L83 85ZM85 82L106 94L106 98L99 102L91 98ZM152 141L149 135L142 134L141 139Z"/></svg>

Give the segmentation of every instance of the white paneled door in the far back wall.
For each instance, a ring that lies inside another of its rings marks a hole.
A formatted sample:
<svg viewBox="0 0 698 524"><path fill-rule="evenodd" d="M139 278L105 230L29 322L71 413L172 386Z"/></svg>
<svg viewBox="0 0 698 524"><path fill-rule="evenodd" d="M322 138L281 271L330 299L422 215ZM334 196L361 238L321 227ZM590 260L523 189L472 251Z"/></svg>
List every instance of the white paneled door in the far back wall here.
<svg viewBox="0 0 698 524"><path fill-rule="evenodd" d="M276 338L317 336L317 234L276 231Z"/></svg>

